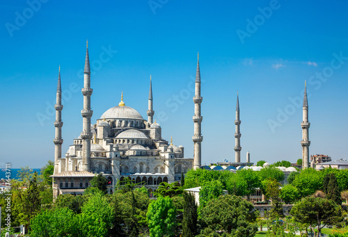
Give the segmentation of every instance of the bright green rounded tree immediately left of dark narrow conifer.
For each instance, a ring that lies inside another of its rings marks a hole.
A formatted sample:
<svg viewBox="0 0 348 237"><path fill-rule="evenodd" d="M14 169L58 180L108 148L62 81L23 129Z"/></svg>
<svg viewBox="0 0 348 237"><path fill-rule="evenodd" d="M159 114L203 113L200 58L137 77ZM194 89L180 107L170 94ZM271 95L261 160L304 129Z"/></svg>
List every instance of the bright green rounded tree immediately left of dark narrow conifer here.
<svg viewBox="0 0 348 237"><path fill-rule="evenodd" d="M146 218L150 237L174 236L176 210L171 197L159 197L150 203Z"/></svg>

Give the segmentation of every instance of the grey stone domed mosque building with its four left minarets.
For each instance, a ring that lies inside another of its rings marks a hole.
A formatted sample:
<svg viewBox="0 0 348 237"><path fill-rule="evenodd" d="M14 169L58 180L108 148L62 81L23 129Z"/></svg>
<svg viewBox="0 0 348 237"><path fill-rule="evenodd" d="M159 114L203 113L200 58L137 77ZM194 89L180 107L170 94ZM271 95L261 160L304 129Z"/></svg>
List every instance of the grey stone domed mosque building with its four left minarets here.
<svg viewBox="0 0 348 237"><path fill-rule="evenodd" d="M63 122L61 113L61 70L58 74L56 92L56 121L53 190L54 199L61 194L79 195L90 186L90 180L96 174L109 180L109 192L113 191L117 181L132 179L139 185L145 185L151 195L162 181L172 183L180 181L182 173L191 168L200 167L201 136L200 123L200 69L199 58L196 70L194 122L194 158L184 158L184 147L173 145L161 136L161 126L153 121L155 111L152 108L152 81L150 76L150 92L148 97L148 120L134 108L126 106L123 93L118 106L105 111L95 124L91 124L90 99L93 89L90 88L90 62L88 44L84 66L84 108L83 129L81 135L74 139L65 156L62 156L61 136Z"/></svg>

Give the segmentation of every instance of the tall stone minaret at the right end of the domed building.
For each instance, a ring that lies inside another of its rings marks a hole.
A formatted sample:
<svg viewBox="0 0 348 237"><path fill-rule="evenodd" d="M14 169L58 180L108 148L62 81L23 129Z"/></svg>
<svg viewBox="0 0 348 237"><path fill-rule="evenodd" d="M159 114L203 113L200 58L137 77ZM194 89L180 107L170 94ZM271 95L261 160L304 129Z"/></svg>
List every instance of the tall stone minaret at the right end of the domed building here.
<svg viewBox="0 0 348 237"><path fill-rule="evenodd" d="M199 54L197 56L197 71L196 71L196 83L195 83L195 96L193 97L193 103L195 104L195 113L193 116L194 122L194 134L192 140L194 142L194 153L193 153L193 169L199 169L201 166L201 144L203 136L201 136L200 123L203 117L200 116L200 104L202 103L203 97L200 97L200 71L199 71Z"/></svg>

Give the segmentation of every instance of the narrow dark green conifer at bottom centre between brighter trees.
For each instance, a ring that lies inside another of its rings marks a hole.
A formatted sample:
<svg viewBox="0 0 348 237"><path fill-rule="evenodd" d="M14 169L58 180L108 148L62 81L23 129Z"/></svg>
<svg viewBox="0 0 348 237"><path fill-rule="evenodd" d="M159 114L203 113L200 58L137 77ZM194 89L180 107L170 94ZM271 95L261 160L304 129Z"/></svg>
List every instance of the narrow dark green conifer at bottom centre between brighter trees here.
<svg viewBox="0 0 348 237"><path fill-rule="evenodd" d="M182 218L182 236L194 237L197 231L197 205L196 199L190 193L183 193L184 196L184 216Z"/></svg>

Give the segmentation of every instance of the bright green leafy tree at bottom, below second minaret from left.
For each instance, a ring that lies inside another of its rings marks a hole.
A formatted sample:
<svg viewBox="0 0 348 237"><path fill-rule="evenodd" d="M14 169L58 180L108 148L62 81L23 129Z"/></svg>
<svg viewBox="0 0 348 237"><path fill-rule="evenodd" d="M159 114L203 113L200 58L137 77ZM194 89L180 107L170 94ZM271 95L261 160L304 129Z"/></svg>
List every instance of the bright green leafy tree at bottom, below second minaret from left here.
<svg viewBox="0 0 348 237"><path fill-rule="evenodd" d="M89 197L77 215L80 236L107 236L115 216L106 196L96 193Z"/></svg>

